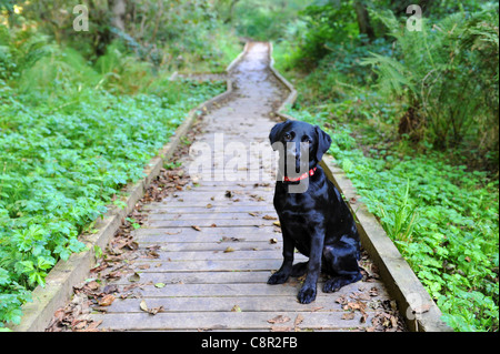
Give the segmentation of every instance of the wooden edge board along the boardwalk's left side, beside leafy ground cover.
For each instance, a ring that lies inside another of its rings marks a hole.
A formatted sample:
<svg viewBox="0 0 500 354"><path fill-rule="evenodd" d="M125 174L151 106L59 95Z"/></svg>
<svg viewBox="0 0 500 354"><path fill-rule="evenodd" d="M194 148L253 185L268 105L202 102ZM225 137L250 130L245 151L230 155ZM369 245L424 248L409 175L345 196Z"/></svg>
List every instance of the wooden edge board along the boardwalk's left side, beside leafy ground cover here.
<svg viewBox="0 0 500 354"><path fill-rule="evenodd" d="M227 68L232 69L246 52L240 53ZM174 78L173 78L174 79ZM139 182L131 182L124 188L122 201L127 204L124 209L116 205L107 205L108 212L96 221L93 234L81 234L79 240L87 245L87 250L81 253L70 255L68 261L60 260L46 277L46 286L37 286L32 292L32 302L22 305L22 318L19 325L9 326L14 332L43 332L49 325L53 313L70 300L73 286L84 281L89 270L96 263L94 247L104 249L114 233L118 231L124 218L133 210L136 203L144 195L152 179L159 175L164 162L176 151L180 139L187 134L190 127L200 112L210 110L214 103L228 98L233 89L232 81L226 80L227 89L221 94L199 104L189 111L186 120L179 125L170 136L170 141L159 150L158 155L152 158L144 168L146 176Z"/></svg>

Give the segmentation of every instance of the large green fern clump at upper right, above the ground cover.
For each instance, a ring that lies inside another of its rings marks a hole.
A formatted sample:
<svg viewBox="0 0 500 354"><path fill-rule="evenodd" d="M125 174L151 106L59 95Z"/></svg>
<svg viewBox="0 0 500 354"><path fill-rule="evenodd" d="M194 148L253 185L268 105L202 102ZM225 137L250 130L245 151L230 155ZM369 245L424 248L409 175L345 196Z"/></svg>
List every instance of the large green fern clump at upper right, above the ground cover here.
<svg viewBox="0 0 500 354"><path fill-rule="evenodd" d="M439 149L467 144L488 151L498 166L498 6L457 12L422 31L408 31L391 11L372 11L396 38L397 55L372 53L382 94L404 98L421 130ZM409 112L409 111L408 111ZM420 118L419 118L420 117Z"/></svg>

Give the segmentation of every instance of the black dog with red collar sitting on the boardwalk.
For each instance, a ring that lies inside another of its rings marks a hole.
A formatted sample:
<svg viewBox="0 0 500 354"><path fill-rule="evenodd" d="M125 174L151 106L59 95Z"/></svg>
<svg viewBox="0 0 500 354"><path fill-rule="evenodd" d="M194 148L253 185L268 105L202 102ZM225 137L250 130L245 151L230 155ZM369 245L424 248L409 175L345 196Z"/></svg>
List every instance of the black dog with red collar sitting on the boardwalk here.
<svg viewBox="0 0 500 354"><path fill-rule="evenodd" d="M331 138L318 125L286 121L272 128L269 140L273 150L280 149L279 143L282 144L280 162L284 168L280 168L282 181L276 184L273 201L283 234L283 263L268 284L282 284L290 275L308 273L298 295L300 303L308 304L316 299L320 271L330 275L323 292L338 291L362 277L358 266L359 234L346 202L318 165L330 148ZM300 142L307 143L308 150L301 150ZM309 152L309 161L301 161L306 152ZM297 175L301 164L307 165L309 171L290 178ZM293 166L296 171L290 171ZM303 193L289 191L289 188L303 183L306 179L309 179L309 184ZM294 247L309 256L309 262L292 265Z"/></svg>

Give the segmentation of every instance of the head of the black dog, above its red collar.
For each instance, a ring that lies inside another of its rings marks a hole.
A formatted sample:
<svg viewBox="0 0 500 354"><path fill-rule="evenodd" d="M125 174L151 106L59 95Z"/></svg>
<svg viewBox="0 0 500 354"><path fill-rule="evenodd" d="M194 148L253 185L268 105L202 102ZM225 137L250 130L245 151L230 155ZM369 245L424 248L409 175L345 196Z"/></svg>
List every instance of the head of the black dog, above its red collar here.
<svg viewBox="0 0 500 354"><path fill-rule="evenodd" d="M269 140L273 150L279 150L280 153L286 152L280 154L281 159L287 160L286 165L294 160L296 170L306 162L309 169L313 168L321 161L331 144L331 138L318 125L291 120L276 124L271 129ZM306 153L309 154L308 159L301 159Z"/></svg>

